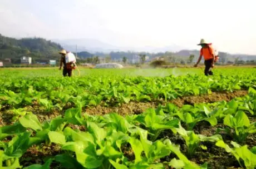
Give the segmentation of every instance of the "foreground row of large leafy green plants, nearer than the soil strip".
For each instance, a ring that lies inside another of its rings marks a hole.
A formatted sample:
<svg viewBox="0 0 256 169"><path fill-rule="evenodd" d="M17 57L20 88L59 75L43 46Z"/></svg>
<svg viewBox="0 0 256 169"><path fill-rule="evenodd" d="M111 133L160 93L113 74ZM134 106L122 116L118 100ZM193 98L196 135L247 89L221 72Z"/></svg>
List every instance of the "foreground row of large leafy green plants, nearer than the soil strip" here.
<svg viewBox="0 0 256 169"><path fill-rule="evenodd" d="M207 163L199 166L189 159L196 150L208 148L201 143L212 142L231 153L241 166L254 168L256 147L249 149L244 141L248 135L256 133L256 123L251 123L248 118L254 117L255 113L256 91L253 88L249 89L248 96L230 102L184 105L182 108L168 104L126 117L116 113L82 115L81 105L66 110L63 117L43 123L29 113L13 125L0 128L0 166L21 167L19 159L29 147L55 143L61 146L62 154L49 158L43 166L37 164L27 168L50 168L53 161L66 168L207 168ZM199 135L193 128L200 121L209 122L211 126L223 123L225 127L212 136ZM69 126L71 124L84 126L85 131L74 130ZM161 133L166 130L185 140L184 153L179 145L161 138ZM235 142L225 143L222 132ZM3 141L6 138L11 141ZM131 148L133 158L125 155L124 147ZM164 160L168 156L174 158Z"/></svg>

